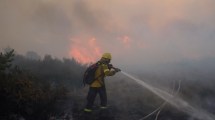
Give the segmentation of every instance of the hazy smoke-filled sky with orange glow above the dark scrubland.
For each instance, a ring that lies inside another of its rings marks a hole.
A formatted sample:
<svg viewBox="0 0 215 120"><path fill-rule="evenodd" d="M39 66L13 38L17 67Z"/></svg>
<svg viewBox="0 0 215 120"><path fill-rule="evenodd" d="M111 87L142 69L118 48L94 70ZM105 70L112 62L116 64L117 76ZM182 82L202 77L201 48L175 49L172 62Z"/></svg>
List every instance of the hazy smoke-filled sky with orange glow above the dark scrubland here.
<svg viewBox="0 0 215 120"><path fill-rule="evenodd" d="M1 0L0 48L119 66L215 57L214 0Z"/></svg>

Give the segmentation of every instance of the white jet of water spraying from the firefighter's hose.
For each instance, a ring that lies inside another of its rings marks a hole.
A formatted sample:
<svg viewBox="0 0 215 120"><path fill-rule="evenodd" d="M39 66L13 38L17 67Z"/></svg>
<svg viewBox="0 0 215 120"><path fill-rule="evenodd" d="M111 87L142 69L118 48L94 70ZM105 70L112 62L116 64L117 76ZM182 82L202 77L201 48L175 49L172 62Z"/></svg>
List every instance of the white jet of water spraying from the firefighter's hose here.
<svg viewBox="0 0 215 120"><path fill-rule="evenodd" d="M166 91L155 88L155 87L145 83L144 81L133 77L132 75L130 75L126 72L121 71L121 73L124 74L125 76L129 77L130 79L134 80L139 85L150 90L155 95L159 96L160 98L162 98L163 100L165 100L166 102L171 104L172 106L174 106L177 109L191 115L192 117L195 117L199 120L215 120L215 116L213 114L210 114L210 113L208 113L202 109L199 109L199 108L194 108L193 106L191 106L188 102L186 102L182 98L173 96Z"/></svg>

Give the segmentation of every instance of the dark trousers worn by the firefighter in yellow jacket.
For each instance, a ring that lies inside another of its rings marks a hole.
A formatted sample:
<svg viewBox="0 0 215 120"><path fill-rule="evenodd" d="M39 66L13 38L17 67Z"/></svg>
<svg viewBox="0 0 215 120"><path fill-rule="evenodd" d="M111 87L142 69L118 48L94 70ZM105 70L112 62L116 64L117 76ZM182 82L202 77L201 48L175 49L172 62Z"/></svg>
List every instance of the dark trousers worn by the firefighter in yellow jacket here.
<svg viewBox="0 0 215 120"><path fill-rule="evenodd" d="M87 109L92 109L96 95L99 93L101 106L107 106L107 93L105 86L103 87L90 87L87 95Z"/></svg>

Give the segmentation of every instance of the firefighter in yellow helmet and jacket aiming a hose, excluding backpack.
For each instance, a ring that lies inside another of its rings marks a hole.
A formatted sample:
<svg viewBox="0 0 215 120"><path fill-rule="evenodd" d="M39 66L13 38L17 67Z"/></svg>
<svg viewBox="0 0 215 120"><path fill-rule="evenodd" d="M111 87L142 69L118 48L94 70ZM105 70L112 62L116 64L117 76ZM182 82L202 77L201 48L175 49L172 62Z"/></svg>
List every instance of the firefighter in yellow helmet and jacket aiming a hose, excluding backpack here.
<svg viewBox="0 0 215 120"><path fill-rule="evenodd" d="M104 53L102 58L98 61L98 68L96 69L95 76L96 78L89 87L88 95L87 95L87 105L84 109L85 112L92 112L92 106L96 95L100 96L100 108L107 108L107 94L105 88L104 78L106 76L113 76L115 73L121 71L119 68L115 68L110 64L111 54Z"/></svg>

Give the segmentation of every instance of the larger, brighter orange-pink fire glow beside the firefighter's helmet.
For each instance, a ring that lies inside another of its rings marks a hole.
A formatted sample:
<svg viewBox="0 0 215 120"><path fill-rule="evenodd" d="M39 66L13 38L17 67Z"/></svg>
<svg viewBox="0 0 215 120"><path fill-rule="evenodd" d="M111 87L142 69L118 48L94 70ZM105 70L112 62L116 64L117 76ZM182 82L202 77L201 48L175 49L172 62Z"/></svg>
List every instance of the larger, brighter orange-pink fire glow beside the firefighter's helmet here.
<svg viewBox="0 0 215 120"><path fill-rule="evenodd" d="M87 42L79 39L72 39L72 45L69 53L78 63L90 64L95 62L101 56L101 49L95 38Z"/></svg>

